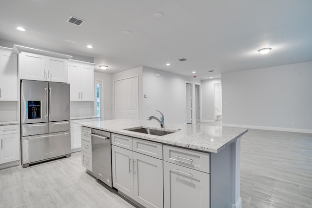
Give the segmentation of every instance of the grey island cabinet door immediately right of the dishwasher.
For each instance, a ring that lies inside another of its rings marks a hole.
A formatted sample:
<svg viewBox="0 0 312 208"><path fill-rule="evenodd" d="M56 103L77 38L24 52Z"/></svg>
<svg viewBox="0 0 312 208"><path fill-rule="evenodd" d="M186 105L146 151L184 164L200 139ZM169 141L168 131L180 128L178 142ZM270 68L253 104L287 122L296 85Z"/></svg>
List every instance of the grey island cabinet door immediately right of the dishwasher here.
<svg viewBox="0 0 312 208"><path fill-rule="evenodd" d="M112 145L113 187L133 198L132 151Z"/></svg>

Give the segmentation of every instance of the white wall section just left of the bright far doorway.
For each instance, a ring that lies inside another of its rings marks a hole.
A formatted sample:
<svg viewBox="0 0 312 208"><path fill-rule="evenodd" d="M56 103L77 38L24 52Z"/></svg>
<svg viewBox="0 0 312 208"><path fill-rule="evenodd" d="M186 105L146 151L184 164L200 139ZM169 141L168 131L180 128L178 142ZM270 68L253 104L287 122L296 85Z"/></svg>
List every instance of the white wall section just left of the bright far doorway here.
<svg viewBox="0 0 312 208"><path fill-rule="evenodd" d="M221 83L221 78L201 80L202 121L215 121L215 86L214 84L217 84L217 83ZM222 87L223 87L223 83L222 83Z"/></svg>

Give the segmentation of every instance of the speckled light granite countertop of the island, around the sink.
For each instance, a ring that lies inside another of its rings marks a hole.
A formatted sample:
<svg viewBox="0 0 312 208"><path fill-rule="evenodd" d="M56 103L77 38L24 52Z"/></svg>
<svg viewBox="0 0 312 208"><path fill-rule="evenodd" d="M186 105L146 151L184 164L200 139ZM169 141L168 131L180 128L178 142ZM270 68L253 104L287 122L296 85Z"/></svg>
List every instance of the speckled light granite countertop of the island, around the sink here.
<svg viewBox="0 0 312 208"><path fill-rule="evenodd" d="M151 140L163 144L174 145L199 151L219 152L226 146L235 142L237 138L248 132L248 129L208 126L205 124L166 124L161 129L170 133L164 136L156 136L140 132L131 132L124 129L136 129L136 127L147 127L160 129L156 122L148 120L116 119L104 121L91 121L80 123L82 126L90 127L107 132L118 133L131 137Z"/></svg>

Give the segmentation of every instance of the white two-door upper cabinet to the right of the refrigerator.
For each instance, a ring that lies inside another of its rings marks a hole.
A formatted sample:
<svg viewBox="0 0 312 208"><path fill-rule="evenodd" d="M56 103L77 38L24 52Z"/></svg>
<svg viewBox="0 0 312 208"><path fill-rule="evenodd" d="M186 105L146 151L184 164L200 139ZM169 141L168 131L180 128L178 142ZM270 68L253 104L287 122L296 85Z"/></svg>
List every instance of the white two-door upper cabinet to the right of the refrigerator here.
<svg viewBox="0 0 312 208"><path fill-rule="evenodd" d="M71 101L94 101L94 63L68 61Z"/></svg>

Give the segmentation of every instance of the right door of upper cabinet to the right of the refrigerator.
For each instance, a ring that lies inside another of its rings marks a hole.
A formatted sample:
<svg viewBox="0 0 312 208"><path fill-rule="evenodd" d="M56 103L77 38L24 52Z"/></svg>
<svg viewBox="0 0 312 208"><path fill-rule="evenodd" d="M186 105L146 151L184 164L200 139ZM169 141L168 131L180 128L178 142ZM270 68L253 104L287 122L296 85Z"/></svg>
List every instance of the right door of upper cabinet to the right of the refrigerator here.
<svg viewBox="0 0 312 208"><path fill-rule="evenodd" d="M94 101L93 66L82 64L80 68L81 101Z"/></svg>

